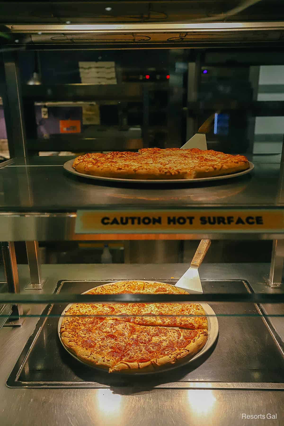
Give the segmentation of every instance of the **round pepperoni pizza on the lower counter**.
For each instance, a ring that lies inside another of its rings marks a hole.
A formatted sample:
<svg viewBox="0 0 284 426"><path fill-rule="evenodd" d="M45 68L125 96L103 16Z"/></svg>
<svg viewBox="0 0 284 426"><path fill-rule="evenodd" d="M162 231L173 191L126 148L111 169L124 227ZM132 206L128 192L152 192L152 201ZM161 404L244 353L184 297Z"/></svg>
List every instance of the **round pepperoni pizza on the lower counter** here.
<svg viewBox="0 0 284 426"><path fill-rule="evenodd" d="M88 294L188 294L162 282L120 281ZM192 303L75 303L60 335L79 360L112 372L148 372L196 354L206 343L204 309Z"/></svg>

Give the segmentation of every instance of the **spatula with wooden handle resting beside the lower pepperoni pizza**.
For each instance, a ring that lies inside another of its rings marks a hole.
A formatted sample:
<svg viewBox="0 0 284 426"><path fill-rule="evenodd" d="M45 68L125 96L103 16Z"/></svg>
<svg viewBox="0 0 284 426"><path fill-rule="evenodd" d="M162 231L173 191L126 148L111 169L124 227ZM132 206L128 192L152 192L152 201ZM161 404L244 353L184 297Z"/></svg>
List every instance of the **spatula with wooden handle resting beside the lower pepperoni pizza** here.
<svg viewBox="0 0 284 426"><path fill-rule="evenodd" d="M210 244L211 241L209 239L201 240L195 252L195 255L192 258L190 268L178 280L175 285L176 287L181 287L185 290L203 293L198 268L201 265L204 256L206 255L207 250L209 249Z"/></svg>

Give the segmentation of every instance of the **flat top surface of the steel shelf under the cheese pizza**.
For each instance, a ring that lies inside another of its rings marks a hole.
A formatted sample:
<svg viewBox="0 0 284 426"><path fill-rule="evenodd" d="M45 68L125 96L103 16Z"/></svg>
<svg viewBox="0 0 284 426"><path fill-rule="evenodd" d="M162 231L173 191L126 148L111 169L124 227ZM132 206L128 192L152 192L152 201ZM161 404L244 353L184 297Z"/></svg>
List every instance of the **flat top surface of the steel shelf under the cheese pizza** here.
<svg viewBox="0 0 284 426"><path fill-rule="evenodd" d="M78 208L281 207L280 164L255 161L252 173L201 183L138 184L103 182L63 169L70 157L37 157L32 163L0 168L1 212L75 212ZM71 157L72 158L72 157ZM139 188L139 191L137 190Z"/></svg>

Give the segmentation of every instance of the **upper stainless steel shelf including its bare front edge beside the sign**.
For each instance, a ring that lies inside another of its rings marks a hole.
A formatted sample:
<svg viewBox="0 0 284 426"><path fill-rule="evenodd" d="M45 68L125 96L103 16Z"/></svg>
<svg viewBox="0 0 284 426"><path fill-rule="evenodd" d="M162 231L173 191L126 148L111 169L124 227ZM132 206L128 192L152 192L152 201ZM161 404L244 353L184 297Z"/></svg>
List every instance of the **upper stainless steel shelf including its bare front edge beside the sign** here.
<svg viewBox="0 0 284 426"><path fill-rule="evenodd" d="M257 162L261 160L258 158L255 157L253 172L240 178L166 186L97 182L73 176L63 169L70 157L34 157L26 165L15 161L0 168L0 240L90 239L74 234L78 209L282 210L282 166L277 162ZM234 235L238 238L238 234ZM210 237L232 235L220 229L220 233ZM273 234L273 238L277 237L283 238L284 234ZM271 239L272 233L243 233L241 238Z"/></svg>

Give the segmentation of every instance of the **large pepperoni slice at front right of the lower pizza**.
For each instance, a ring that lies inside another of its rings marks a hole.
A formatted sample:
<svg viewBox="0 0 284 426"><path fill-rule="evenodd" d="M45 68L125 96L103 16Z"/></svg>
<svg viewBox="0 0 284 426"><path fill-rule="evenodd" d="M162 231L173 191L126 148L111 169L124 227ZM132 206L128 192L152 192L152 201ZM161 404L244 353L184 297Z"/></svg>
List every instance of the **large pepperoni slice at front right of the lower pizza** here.
<svg viewBox="0 0 284 426"><path fill-rule="evenodd" d="M205 345L207 337L207 330L136 326L122 357L109 372L155 371L164 364L193 356Z"/></svg>

